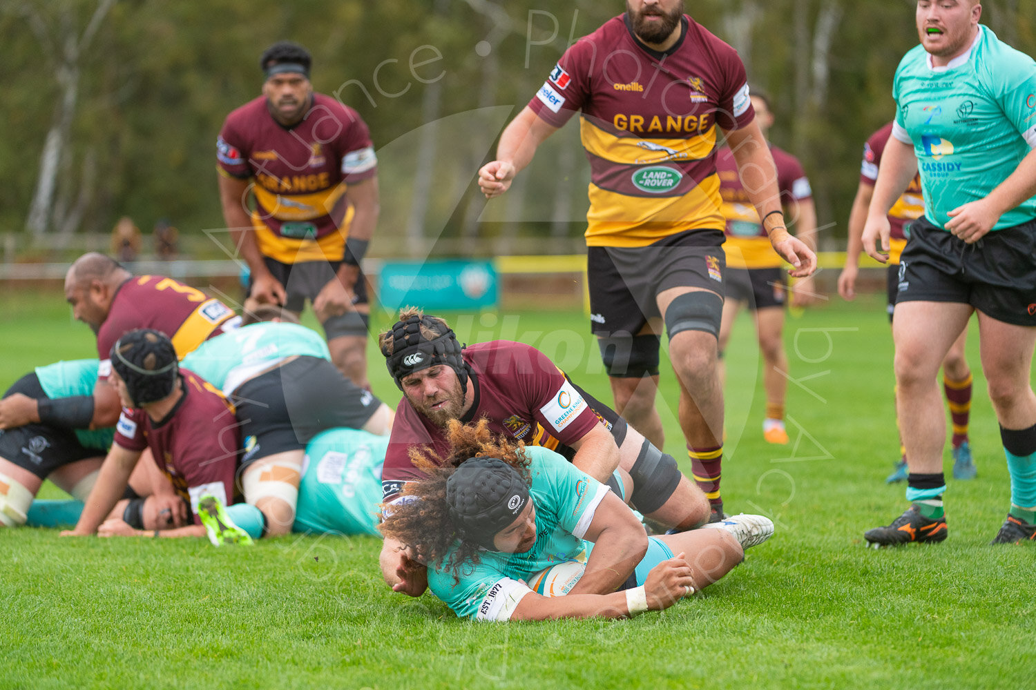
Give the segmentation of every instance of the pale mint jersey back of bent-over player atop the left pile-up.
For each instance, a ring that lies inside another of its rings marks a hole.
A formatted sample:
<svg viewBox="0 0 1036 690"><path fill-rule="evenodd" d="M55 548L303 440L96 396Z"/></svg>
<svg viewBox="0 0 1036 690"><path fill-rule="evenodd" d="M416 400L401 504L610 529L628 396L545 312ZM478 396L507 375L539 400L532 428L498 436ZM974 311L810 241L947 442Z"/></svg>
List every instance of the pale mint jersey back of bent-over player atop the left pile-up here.
<svg viewBox="0 0 1036 690"><path fill-rule="evenodd" d="M205 340L183 358L180 366L229 395L250 374L296 355L330 359L327 343L313 329L262 322Z"/></svg>

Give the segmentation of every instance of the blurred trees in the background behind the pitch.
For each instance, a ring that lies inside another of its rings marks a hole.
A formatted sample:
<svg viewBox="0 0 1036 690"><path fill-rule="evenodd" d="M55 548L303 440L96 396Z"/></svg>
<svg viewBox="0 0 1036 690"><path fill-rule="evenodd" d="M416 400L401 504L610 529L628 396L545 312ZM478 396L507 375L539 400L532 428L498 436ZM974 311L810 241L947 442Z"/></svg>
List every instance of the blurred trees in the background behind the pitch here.
<svg viewBox="0 0 1036 690"><path fill-rule="evenodd" d="M1033 55L1034 5L989 2L983 23ZM687 3L771 95L771 137L803 161L829 242L844 236L864 140L892 117L893 72L917 43L914 6ZM453 240L447 251L484 251L479 237L495 238L498 253L570 250L588 182L574 124L501 200L487 205L474 176L565 48L623 10L618 0L5 0L0 232L107 233L128 215L218 235L217 134L259 95L262 50L288 38L313 53L316 90L370 125L381 161L375 254L440 238Z"/></svg>

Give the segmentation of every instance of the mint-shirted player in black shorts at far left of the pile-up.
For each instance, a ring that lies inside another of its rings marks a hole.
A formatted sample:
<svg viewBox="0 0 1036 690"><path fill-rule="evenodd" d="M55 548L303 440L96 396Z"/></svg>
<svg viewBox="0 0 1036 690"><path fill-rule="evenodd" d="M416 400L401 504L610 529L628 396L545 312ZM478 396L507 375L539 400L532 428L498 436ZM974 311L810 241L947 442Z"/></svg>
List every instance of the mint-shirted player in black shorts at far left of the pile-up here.
<svg viewBox="0 0 1036 690"><path fill-rule="evenodd" d="M0 526L18 527L27 518L30 524L67 519L64 513L42 515L39 506L31 509L45 479L78 499L77 504L89 496L115 429L67 428L50 411L66 399L90 396L97 367L96 359L39 366L15 382L0 399ZM20 423L24 400L31 401L47 421ZM162 479L156 474L147 468L136 471L130 479L130 498L155 492L160 488L155 480ZM167 491L167 498L171 493ZM48 508L46 512L53 514L57 506L48 504Z"/></svg>

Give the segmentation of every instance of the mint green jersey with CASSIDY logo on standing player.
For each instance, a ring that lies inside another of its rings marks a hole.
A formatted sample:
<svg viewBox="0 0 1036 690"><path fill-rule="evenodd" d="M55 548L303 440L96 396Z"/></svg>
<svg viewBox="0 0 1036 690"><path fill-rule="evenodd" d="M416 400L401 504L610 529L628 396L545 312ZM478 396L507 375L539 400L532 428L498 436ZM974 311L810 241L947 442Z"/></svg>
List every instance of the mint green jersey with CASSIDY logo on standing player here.
<svg viewBox="0 0 1036 690"><path fill-rule="evenodd" d="M1036 147L1036 62L987 27L971 52L946 68L929 66L922 46L896 69L894 134L910 136L924 188L925 216L940 228L949 211L983 199ZM1036 218L1036 197L994 230Z"/></svg>

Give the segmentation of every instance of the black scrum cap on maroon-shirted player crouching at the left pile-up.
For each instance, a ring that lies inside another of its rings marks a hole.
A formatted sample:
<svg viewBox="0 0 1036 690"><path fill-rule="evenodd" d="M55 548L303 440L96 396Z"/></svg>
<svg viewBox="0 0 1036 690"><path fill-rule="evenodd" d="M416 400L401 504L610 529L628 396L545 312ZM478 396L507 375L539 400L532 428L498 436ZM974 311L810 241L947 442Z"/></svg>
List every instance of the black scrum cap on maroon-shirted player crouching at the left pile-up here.
<svg viewBox="0 0 1036 690"><path fill-rule="evenodd" d="M125 382L134 407L173 392L179 366L173 343L161 331L143 328L120 337L111 351L112 368Z"/></svg>

